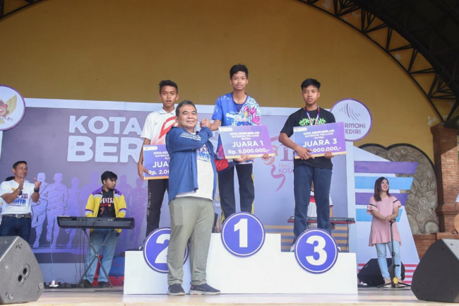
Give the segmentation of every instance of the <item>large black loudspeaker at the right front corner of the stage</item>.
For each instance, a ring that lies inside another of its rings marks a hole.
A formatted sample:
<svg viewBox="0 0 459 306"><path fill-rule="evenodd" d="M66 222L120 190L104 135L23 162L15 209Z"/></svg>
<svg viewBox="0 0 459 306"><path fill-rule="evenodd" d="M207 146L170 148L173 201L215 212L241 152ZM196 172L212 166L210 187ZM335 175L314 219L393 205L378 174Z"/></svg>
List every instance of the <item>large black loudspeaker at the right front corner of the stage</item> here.
<svg viewBox="0 0 459 306"><path fill-rule="evenodd" d="M432 244L413 273L411 290L419 300L459 302L459 240Z"/></svg>

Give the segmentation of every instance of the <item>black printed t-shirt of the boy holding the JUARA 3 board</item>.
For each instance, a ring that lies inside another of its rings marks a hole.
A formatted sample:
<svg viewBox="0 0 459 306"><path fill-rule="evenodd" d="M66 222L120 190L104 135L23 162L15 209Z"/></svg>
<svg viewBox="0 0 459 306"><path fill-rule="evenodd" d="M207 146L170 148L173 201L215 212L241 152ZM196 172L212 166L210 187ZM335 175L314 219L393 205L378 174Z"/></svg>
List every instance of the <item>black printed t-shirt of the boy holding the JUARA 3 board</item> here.
<svg viewBox="0 0 459 306"><path fill-rule="evenodd" d="M319 117L317 119L317 124L326 124L326 123L335 122L335 116L333 116L331 112L328 112L328 110L324 110L322 107L319 107L319 108L320 108L320 112L319 112ZM287 121L284 124L284 127L282 128L280 132L285 133L287 134L287 136L290 137L293 135L294 127L316 124L317 110L309 111L309 116L311 117L312 124L304 108L300 108L293 114L290 114L290 116L288 117ZM302 160L300 158L293 160L293 165L301 165L301 164L306 164L306 165L310 165L311 167L318 167L318 168L326 168L326 169L333 168L333 164L331 163L330 158L325 158L323 156L316 157L314 159L308 158L307 160Z"/></svg>

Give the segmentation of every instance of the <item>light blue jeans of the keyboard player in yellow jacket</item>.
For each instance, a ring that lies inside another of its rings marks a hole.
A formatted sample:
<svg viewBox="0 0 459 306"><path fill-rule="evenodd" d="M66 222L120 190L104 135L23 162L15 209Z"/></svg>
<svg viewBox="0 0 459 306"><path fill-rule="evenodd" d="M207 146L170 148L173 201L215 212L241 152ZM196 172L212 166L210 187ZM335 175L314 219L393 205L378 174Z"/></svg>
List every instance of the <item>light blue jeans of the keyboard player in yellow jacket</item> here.
<svg viewBox="0 0 459 306"><path fill-rule="evenodd" d="M110 268L112 267L114 249L117 246L117 232L115 230L108 230L108 229L107 230L105 229L93 230L93 233L90 234L90 242L93 243L95 250L99 251L100 245L102 245L102 242L104 242L105 237L107 236L109 236L107 239L107 242L105 242L105 245L102 247L102 250L101 250L102 256L103 256L101 261L102 261L102 266L104 267L105 271L107 271L107 274L108 274L110 271ZM93 260L93 258L94 258L93 248L88 246L88 254L86 255L86 261L85 261L85 269L88 268L88 265L90 261ZM97 259L94 259L93 264L91 264L85 276L85 279L87 279L90 283L93 283L96 267L97 267ZM99 278L97 278L97 281L99 283L101 281L107 281L107 276L102 271L102 269L99 269Z"/></svg>

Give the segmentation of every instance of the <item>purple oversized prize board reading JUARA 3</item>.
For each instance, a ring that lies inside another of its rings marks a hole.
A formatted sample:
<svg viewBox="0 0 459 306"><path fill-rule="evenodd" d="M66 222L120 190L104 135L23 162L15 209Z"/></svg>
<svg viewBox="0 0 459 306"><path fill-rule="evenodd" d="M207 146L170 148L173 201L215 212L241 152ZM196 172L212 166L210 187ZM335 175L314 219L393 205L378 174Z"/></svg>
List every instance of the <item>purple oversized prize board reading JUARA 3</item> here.
<svg viewBox="0 0 459 306"><path fill-rule="evenodd" d="M344 124L342 122L296 126L293 128L294 143L312 150L313 156L323 156L326 151L333 155L346 154ZM295 158L299 158L295 152Z"/></svg>

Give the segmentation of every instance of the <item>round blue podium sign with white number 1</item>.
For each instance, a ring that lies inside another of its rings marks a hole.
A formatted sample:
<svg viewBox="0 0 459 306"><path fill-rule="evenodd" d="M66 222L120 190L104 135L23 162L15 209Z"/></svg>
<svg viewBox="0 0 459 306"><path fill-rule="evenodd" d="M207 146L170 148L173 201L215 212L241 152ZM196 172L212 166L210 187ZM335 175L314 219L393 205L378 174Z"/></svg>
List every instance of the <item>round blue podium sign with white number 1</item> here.
<svg viewBox="0 0 459 306"><path fill-rule="evenodd" d="M250 213L234 213L223 223L222 242L231 254L249 257L263 247L265 228Z"/></svg>

